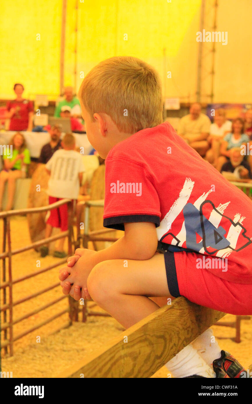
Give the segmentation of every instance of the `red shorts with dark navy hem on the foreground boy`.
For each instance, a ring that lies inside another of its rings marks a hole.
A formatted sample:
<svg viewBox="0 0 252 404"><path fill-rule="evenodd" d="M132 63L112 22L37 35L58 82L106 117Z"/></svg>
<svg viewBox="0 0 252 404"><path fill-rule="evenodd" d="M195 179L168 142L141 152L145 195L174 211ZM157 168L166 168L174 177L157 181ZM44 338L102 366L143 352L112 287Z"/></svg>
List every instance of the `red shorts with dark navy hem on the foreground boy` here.
<svg viewBox="0 0 252 404"><path fill-rule="evenodd" d="M184 254L187 255L186 265ZM229 282L208 269L195 269L195 256L202 257L202 254L181 251L166 252L164 255L167 283L172 296L184 296L193 303L224 313L252 315L252 284Z"/></svg>

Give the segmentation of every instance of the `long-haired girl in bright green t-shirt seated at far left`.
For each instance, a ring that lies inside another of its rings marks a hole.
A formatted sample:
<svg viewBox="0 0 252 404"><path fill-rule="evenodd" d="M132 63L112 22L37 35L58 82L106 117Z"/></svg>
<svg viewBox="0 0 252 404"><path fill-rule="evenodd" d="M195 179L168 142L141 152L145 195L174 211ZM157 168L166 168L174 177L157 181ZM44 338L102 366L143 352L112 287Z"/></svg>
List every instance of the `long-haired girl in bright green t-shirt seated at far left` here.
<svg viewBox="0 0 252 404"><path fill-rule="evenodd" d="M0 210L2 210L2 197L4 186L8 181L8 202L6 210L13 207L16 180L25 178L27 165L30 164L30 152L26 147L25 138L21 133L15 133L10 142L10 148L4 153L4 169L0 172Z"/></svg>

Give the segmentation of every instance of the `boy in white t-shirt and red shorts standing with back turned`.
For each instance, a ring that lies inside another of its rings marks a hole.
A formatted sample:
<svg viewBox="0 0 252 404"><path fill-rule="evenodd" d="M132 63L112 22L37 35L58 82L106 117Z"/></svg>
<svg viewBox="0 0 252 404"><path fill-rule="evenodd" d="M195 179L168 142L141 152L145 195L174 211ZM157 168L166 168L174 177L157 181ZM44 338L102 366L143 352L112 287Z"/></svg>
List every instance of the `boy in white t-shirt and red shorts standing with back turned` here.
<svg viewBox="0 0 252 404"><path fill-rule="evenodd" d="M63 149L55 151L49 162L46 164L46 170L50 174L48 182L49 204L57 202L64 198L70 198L73 201L78 198L79 189L85 171L83 160L77 151L75 151L75 138L72 133L67 133L62 142ZM68 205L64 204L50 212L47 220L45 237L50 237L53 227L60 227L61 231L68 230ZM59 240L58 250L53 256L58 258L66 257L63 250L65 238ZM40 248L41 257L48 255L48 246Z"/></svg>

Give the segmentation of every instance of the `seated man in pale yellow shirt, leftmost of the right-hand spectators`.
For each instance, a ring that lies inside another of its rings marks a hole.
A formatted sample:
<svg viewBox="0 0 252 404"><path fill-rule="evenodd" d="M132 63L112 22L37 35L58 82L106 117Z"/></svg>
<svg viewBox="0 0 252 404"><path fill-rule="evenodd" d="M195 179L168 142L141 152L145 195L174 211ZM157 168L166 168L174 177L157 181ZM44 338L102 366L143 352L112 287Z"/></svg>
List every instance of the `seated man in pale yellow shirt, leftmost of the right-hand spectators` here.
<svg viewBox="0 0 252 404"><path fill-rule="evenodd" d="M178 135L180 135L201 156L205 156L209 149L207 141L211 121L205 114L201 114L201 105L191 105L190 114L180 119Z"/></svg>

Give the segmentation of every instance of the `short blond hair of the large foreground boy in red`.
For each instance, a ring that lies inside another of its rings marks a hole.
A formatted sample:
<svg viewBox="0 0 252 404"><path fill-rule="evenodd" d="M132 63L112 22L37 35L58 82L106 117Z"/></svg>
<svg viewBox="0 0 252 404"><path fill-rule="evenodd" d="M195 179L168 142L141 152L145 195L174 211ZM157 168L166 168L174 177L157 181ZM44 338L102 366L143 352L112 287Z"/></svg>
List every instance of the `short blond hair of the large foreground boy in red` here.
<svg viewBox="0 0 252 404"><path fill-rule="evenodd" d="M121 132L136 133L163 122L162 86L148 63L131 56L100 62L80 86L80 97L91 119L103 112Z"/></svg>

